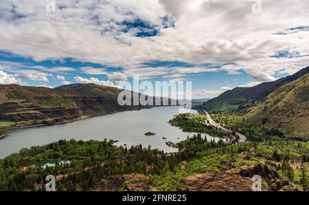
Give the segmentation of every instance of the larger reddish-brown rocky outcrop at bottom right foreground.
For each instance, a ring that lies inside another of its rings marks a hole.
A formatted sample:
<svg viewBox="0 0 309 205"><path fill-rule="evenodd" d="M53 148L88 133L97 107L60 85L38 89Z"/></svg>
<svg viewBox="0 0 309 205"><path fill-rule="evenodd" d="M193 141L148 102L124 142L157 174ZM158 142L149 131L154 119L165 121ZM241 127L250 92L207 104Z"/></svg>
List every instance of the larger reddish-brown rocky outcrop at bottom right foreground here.
<svg viewBox="0 0 309 205"><path fill-rule="evenodd" d="M264 164L247 166L239 173L220 171L192 175L181 180L185 191L253 191L253 175L262 177L262 191L296 191L297 188Z"/></svg>

